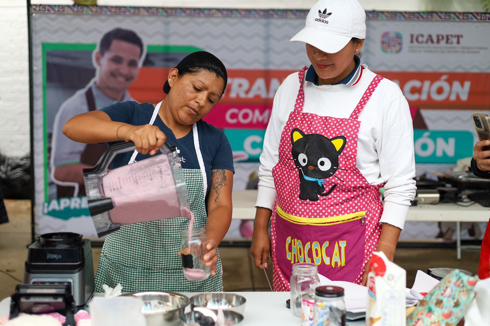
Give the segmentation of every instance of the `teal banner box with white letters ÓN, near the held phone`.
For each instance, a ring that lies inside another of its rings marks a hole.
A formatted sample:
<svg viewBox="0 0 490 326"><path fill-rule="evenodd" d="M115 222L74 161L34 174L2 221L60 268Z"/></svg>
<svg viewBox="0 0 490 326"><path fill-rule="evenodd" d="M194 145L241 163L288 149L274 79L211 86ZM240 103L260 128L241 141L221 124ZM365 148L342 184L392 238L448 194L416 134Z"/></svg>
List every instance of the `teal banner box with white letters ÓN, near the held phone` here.
<svg viewBox="0 0 490 326"><path fill-rule="evenodd" d="M473 156L473 135L459 130L414 130L416 163L456 163Z"/></svg>

